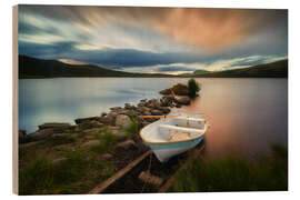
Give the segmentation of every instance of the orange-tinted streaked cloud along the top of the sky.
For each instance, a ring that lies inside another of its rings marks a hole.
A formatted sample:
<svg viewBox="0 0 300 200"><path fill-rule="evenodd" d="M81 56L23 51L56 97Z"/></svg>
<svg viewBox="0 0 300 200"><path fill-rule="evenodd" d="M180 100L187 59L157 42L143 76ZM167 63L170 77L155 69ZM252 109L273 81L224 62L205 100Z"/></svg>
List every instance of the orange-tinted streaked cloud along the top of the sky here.
<svg viewBox="0 0 300 200"><path fill-rule="evenodd" d="M71 22L89 34L106 31L113 23L156 31L207 53L242 44L267 29L287 34L288 23L287 10L268 9L23 6L23 11Z"/></svg>

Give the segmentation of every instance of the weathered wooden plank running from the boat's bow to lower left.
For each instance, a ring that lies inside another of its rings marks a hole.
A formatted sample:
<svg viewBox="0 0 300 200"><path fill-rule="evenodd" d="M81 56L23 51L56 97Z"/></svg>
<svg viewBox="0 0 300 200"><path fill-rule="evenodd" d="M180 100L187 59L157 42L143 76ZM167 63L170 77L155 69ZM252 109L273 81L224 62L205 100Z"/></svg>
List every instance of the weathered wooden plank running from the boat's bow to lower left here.
<svg viewBox="0 0 300 200"><path fill-rule="evenodd" d="M96 194L103 192L109 186L111 186L113 182L122 178L127 172L129 172L132 168L134 168L138 163L140 163L143 159L146 159L151 153L151 150L148 150L142 156L140 156L138 159L130 162L127 167L119 170L117 173L114 173L112 177L110 177L108 180L101 182L96 188L93 188L91 191L89 191L89 194Z"/></svg>

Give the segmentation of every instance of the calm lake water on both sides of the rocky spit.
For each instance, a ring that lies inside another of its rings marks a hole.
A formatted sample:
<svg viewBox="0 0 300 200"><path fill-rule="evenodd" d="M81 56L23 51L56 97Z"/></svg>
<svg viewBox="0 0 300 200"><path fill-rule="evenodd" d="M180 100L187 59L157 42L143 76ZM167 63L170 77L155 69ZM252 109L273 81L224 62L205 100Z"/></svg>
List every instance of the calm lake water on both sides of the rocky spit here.
<svg viewBox="0 0 300 200"><path fill-rule="evenodd" d="M43 122L71 122L109 108L160 97L160 90L188 79L60 78L19 80L19 129ZM197 79L201 94L182 110L204 113L211 124L206 150L254 156L270 143L288 144L288 79Z"/></svg>

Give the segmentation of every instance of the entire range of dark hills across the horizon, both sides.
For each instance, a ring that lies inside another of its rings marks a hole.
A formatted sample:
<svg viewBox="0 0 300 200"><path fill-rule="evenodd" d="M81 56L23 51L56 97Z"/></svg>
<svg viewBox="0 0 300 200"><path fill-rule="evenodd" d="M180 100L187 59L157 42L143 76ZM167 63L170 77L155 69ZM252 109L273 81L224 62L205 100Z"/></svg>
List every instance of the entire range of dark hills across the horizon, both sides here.
<svg viewBox="0 0 300 200"><path fill-rule="evenodd" d="M109 70L93 64L70 64L57 60L43 60L19 56L19 79L59 77L187 77L187 78L287 78L288 60L226 71L197 70L179 76L162 73L130 73Z"/></svg>

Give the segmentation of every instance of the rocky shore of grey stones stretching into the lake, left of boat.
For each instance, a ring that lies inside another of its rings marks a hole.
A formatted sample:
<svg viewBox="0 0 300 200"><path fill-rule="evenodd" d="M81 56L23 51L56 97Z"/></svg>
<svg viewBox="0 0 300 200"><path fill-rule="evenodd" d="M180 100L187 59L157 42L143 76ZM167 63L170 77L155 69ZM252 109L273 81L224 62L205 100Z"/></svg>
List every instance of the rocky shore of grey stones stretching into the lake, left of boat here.
<svg viewBox="0 0 300 200"><path fill-rule="evenodd" d="M88 166L93 166L94 162L98 166L110 163L101 170L88 167L82 169L87 173L92 173L89 179L89 184L92 186L93 181L104 180L111 176L110 173L123 168L147 151L148 147L141 141L139 130L158 119L142 118L142 116L168 114L172 108L190 104L190 98L182 96L182 92L166 93L159 99L142 99L137 106L124 103L124 107L110 108L109 112L102 112L96 117L76 119L76 124L43 123L36 132L29 134L19 130L20 173L26 173L27 168L30 168L32 162L37 162L37 159L41 157L52 166L59 167L70 164L74 154ZM60 171L63 170L60 169L58 173ZM84 184L82 180L79 182ZM21 184L20 187L22 188ZM71 186L70 190L73 190ZM50 192L61 193L59 190Z"/></svg>

